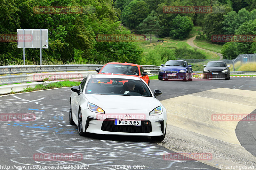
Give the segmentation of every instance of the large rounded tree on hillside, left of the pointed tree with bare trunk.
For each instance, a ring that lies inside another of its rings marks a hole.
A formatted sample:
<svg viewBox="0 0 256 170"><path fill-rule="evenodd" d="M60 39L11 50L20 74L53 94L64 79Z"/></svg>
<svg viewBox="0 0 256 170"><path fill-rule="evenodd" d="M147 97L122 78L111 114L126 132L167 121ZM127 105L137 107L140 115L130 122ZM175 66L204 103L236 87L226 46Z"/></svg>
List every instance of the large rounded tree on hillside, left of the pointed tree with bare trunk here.
<svg viewBox="0 0 256 170"><path fill-rule="evenodd" d="M142 0L133 0L122 11L121 20L130 29L138 26L149 14L148 4Z"/></svg>

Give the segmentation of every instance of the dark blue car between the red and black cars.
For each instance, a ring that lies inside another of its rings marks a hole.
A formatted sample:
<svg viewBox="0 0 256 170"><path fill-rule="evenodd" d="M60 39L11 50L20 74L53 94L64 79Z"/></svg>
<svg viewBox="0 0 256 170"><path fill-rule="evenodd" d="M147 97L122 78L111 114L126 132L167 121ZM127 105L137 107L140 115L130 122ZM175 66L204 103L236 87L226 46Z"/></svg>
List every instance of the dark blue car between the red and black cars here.
<svg viewBox="0 0 256 170"><path fill-rule="evenodd" d="M183 81L192 80L192 66L183 60L169 60L161 64L158 70L158 80L181 79Z"/></svg>

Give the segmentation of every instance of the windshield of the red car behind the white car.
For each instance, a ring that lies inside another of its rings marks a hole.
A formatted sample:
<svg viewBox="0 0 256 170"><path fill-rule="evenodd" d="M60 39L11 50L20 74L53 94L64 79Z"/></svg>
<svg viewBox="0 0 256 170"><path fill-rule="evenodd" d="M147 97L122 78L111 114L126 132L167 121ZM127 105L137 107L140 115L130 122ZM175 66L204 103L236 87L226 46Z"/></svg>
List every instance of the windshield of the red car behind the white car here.
<svg viewBox="0 0 256 170"><path fill-rule="evenodd" d="M138 67L124 64L107 64L100 70L101 73L139 75Z"/></svg>

